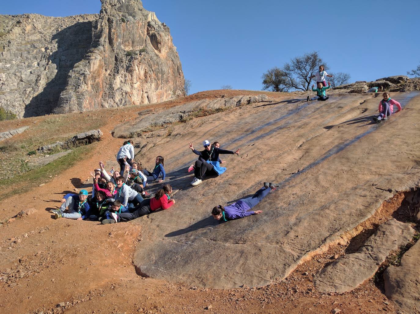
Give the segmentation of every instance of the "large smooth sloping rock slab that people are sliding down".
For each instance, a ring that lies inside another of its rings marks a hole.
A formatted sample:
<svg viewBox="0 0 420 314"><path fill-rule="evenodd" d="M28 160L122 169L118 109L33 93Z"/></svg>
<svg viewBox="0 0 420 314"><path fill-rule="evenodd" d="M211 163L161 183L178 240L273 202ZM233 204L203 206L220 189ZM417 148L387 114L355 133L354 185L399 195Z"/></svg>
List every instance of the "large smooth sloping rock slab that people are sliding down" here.
<svg viewBox="0 0 420 314"><path fill-rule="evenodd" d="M417 185L419 96L394 94L403 110L380 124L371 120L378 98L344 93L326 102L235 107L178 123L167 136L146 133L136 159L150 169L157 155L165 157L164 183L173 186L176 204L134 220L143 225L136 269L201 287L253 287L282 280L320 248L345 243L393 191ZM188 142L201 149L205 139L241 154L221 155L227 171L192 187L187 168L197 156ZM255 208L262 214L220 224L211 217L214 206L252 194L264 181L281 188ZM150 184L150 192L160 186Z"/></svg>

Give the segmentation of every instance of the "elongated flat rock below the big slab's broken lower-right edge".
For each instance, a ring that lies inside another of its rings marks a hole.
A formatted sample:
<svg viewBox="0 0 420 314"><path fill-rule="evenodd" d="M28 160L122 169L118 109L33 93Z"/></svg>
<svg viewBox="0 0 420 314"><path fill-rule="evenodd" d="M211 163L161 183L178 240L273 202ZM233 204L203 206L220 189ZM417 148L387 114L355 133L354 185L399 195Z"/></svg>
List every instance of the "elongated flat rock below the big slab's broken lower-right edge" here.
<svg viewBox="0 0 420 314"><path fill-rule="evenodd" d="M321 292L341 293L355 289L375 275L388 254L407 244L413 237L410 225L394 218L378 227L365 244L356 252L346 254L328 264L314 277L314 284Z"/></svg>

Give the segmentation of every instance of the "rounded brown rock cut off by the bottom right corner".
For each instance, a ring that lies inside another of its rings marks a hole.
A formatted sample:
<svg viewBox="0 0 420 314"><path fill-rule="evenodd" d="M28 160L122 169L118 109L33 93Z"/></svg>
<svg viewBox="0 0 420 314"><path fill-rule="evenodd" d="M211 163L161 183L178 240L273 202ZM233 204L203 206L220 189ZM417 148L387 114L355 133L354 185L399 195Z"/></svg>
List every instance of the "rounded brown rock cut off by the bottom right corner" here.
<svg viewBox="0 0 420 314"><path fill-rule="evenodd" d="M420 313L420 242L401 258L399 267L390 266L383 273L385 294L403 313Z"/></svg>

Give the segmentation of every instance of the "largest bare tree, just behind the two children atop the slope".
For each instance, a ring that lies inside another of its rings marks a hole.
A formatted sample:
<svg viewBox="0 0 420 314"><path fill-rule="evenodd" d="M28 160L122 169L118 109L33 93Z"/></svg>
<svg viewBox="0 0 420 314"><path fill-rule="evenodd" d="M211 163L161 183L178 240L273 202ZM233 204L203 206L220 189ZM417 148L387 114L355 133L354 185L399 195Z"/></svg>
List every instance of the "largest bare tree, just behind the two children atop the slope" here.
<svg viewBox="0 0 420 314"><path fill-rule="evenodd" d="M283 72L287 78L286 86L294 89L301 89L302 91L309 90L310 82L309 79L315 71L318 71L320 65L327 65L318 55L317 51L305 53L303 56L295 57L290 62L285 63L283 66Z"/></svg>

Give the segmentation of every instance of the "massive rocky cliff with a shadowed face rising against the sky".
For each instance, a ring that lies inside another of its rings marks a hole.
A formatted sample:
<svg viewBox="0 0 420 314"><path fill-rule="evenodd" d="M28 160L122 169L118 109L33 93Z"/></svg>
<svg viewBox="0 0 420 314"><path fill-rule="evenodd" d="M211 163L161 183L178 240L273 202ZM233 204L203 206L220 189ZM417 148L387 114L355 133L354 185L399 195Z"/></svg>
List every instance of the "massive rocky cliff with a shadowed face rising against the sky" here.
<svg viewBox="0 0 420 314"><path fill-rule="evenodd" d="M98 15L0 16L0 106L18 117L161 102L180 94L168 26L138 0Z"/></svg>

